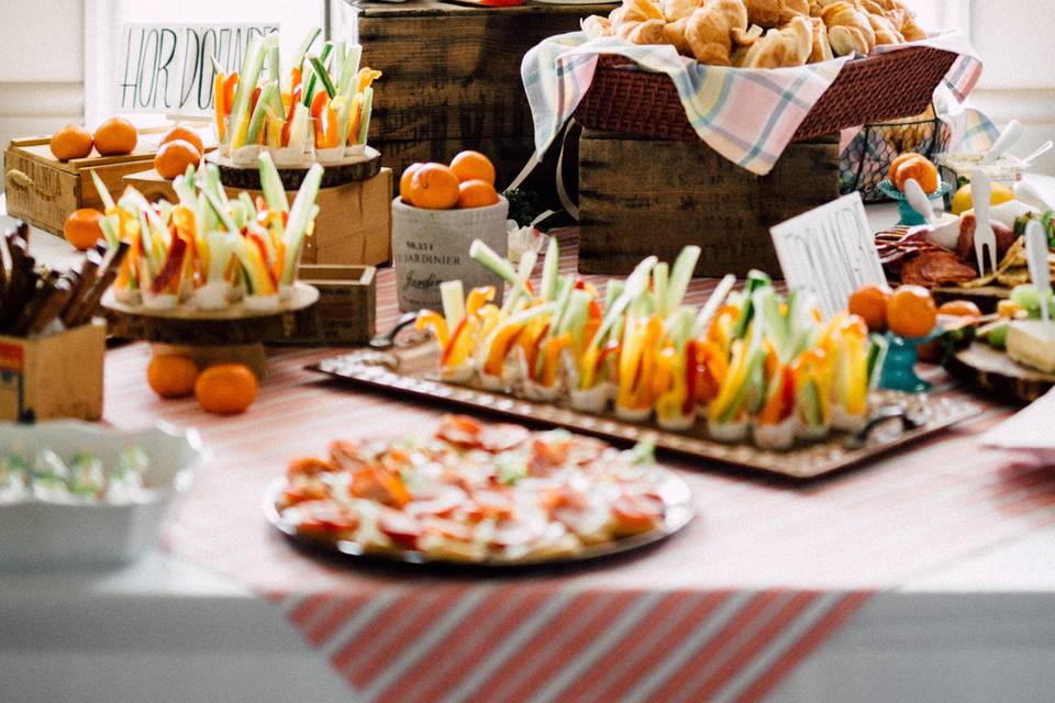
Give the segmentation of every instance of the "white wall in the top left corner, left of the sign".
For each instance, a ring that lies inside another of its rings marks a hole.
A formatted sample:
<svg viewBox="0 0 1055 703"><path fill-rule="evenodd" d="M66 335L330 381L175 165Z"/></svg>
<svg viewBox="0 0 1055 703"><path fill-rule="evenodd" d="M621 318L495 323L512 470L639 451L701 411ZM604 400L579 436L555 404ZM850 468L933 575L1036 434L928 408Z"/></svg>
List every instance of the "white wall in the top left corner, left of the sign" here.
<svg viewBox="0 0 1055 703"><path fill-rule="evenodd" d="M84 120L84 2L0 0L0 148Z"/></svg>

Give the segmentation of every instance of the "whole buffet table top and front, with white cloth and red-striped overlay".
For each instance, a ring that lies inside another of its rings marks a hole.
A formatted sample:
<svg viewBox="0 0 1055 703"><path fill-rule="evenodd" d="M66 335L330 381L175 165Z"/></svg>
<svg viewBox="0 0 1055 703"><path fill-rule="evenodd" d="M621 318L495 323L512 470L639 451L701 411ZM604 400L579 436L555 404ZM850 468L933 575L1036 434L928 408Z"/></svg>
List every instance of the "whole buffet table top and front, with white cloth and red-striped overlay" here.
<svg viewBox="0 0 1055 703"><path fill-rule="evenodd" d="M889 210L873 214L888 224ZM574 232L563 237L571 249ZM397 315L392 271L378 280L385 330ZM145 345L108 353L107 420L195 425L213 458L142 561L0 571L0 699L1047 701L1055 691L1055 467L976 439L1012 409L986 402L952 432L808 484L665 457L699 515L658 548L512 578L426 576L313 559L263 517L262 491L291 457L338 437L423 432L444 412L303 370L330 354L275 349L253 408L216 419L149 391ZM936 369L929 377L962 392Z"/></svg>

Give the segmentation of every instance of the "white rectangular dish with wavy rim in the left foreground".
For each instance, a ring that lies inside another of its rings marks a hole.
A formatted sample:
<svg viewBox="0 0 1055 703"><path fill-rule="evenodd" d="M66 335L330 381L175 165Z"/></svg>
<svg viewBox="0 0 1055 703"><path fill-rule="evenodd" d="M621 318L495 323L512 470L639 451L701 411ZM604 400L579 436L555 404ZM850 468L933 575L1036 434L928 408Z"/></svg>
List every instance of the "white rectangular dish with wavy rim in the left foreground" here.
<svg viewBox="0 0 1055 703"><path fill-rule="evenodd" d="M126 562L157 543L175 495L190 486L206 451L195 429L167 424L121 431L79 421L0 424L0 454L31 459L43 449L64 460L81 451L113 466L126 447L148 458L142 494L125 503L48 502L32 496L0 503L0 569Z"/></svg>

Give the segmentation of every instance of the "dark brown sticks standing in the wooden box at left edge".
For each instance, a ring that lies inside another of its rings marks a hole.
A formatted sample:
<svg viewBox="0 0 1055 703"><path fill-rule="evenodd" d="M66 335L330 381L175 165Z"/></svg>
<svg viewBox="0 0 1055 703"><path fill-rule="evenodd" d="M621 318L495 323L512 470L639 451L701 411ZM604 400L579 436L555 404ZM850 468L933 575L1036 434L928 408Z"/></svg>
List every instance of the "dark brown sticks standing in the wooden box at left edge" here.
<svg viewBox="0 0 1055 703"><path fill-rule="evenodd" d="M30 256L30 227L0 237L0 334L32 337L91 321L102 294L121 269L129 245L88 249L80 270L49 271ZM4 260L7 264L4 264Z"/></svg>

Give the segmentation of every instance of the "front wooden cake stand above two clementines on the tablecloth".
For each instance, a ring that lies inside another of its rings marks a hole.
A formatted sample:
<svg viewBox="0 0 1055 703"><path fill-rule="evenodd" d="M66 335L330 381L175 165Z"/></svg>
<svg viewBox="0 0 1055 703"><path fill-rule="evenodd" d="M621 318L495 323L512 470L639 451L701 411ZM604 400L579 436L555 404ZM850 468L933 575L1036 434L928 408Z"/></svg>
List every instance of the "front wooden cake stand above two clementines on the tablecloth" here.
<svg viewBox="0 0 1055 703"><path fill-rule="evenodd" d="M200 366L240 362L264 378L267 353L264 343L282 339L296 331L295 313L315 304L319 290L308 283L293 283L292 294L277 310L247 310L243 303L220 310L198 310L179 305L173 310L152 310L145 305L119 302L113 289L102 297L111 333L154 345L154 354L181 354Z"/></svg>

